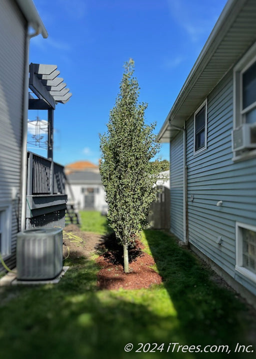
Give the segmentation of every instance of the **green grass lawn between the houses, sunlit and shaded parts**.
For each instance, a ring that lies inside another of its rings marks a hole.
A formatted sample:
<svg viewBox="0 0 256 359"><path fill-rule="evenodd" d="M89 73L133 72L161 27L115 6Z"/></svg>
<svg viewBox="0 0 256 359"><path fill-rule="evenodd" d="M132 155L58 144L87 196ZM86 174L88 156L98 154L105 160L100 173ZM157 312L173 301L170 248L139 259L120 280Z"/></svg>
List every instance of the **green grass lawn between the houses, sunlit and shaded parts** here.
<svg viewBox="0 0 256 359"><path fill-rule="evenodd" d="M106 219L86 216L82 229L98 233ZM102 232L101 232L102 231ZM179 352L173 344L229 345L247 342L246 307L209 279L210 271L175 239L161 231L142 234L145 250L163 277L161 285L138 290L98 290L93 258L65 260L70 268L58 284L0 288L0 353L3 358L224 358L226 353ZM124 351L133 343L134 349ZM141 345L141 352L135 352ZM156 344L153 344L156 343ZM164 343L160 346L161 343ZM158 347L158 349L157 349ZM169 348L169 349L168 349ZM162 349L162 350L161 350ZM201 349L201 348L200 348ZM199 350L200 350L199 349ZM214 347L213 347L214 349ZM167 352L168 350L168 352ZM256 350L256 347L255 347Z"/></svg>

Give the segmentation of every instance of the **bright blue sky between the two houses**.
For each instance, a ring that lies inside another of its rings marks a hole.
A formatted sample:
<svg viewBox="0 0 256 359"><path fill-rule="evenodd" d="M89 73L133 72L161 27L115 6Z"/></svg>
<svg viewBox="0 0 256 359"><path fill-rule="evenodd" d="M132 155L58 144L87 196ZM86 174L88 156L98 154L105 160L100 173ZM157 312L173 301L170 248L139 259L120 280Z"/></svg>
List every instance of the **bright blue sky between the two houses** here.
<svg viewBox="0 0 256 359"><path fill-rule="evenodd" d="M145 122L160 130L225 0L33 0L48 38L30 40L29 62L57 65L72 97L54 112L54 161L100 158L99 134L132 58L146 102ZM29 120L47 116L29 111ZM29 145L31 147L31 145ZM31 149L45 156L44 150ZM157 156L168 159L168 145Z"/></svg>

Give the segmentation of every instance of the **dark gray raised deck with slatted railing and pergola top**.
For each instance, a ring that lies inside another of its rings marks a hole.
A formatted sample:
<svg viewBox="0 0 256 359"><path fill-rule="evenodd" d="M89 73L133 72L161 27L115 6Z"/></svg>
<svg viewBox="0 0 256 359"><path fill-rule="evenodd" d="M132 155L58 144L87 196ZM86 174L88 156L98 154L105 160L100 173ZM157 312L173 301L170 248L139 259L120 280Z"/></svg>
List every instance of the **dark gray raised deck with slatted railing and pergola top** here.
<svg viewBox="0 0 256 359"><path fill-rule="evenodd" d="M64 167L53 162L53 114L71 97L55 65L29 65L29 110L47 110L47 158L27 153L26 229L64 227L67 195ZM33 97L33 94L36 98Z"/></svg>

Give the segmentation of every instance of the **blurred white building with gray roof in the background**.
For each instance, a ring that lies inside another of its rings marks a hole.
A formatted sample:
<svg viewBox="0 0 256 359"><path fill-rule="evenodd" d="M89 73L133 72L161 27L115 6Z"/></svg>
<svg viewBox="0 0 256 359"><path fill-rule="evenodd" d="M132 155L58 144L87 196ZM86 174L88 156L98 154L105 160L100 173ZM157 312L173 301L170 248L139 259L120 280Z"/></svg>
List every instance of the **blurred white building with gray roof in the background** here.
<svg viewBox="0 0 256 359"><path fill-rule="evenodd" d="M76 171L66 175L67 204L74 204L78 210L105 212L105 191L99 172Z"/></svg>

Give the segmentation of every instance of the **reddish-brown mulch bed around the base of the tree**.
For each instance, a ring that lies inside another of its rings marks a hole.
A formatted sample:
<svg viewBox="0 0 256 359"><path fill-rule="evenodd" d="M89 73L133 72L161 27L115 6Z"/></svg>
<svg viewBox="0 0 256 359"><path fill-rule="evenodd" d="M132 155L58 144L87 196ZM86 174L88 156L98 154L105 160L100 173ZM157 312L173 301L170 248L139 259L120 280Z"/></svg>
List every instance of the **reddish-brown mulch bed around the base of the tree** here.
<svg viewBox="0 0 256 359"><path fill-rule="evenodd" d="M129 273L124 273L122 246L113 234L106 237L104 242L97 246L98 252L102 253L96 260L101 267L97 275L99 288L139 289L160 284L160 275L150 268L155 264L153 258L142 249L142 243L136 239L134 247L129 248Z"/></svg>

